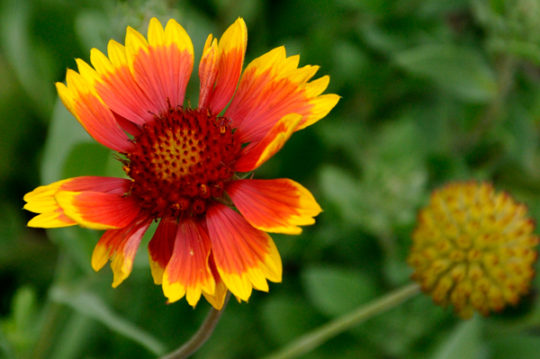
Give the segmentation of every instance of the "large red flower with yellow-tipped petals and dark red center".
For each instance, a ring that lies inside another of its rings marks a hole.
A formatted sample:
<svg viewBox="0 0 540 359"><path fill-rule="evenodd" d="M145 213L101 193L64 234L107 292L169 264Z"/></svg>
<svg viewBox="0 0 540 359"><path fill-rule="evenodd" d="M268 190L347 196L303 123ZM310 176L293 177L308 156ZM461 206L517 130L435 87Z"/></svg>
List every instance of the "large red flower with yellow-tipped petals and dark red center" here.
<svg viewBox="0 0 540 359"><path fill-rule="evenodd" d="M319 67L298 68L299 56L287 58L284 47L242 73L246 46L241 18L219 41L208 37L195 109L183 106L193 44L175 20L164 30L152 19L148 41L128 27L125 47L111 40L108 58L92 49L93 67L76 59L78 73L67 70L58 95L95 140L121 154L130 179L83 176L38 187L24 196L24 208L40 213L28 225L105 229L92 266L111 259L116 287L159 220L148 253L169 302L185 295L195 306L203 294L219 310L227 290L247 301L252 288L268 291L266 280L281 282L281 258L266 232L299 234L320 206L292 180L238 174L264 164L339 97L321 95L329 76L308 82Z"/></svg>

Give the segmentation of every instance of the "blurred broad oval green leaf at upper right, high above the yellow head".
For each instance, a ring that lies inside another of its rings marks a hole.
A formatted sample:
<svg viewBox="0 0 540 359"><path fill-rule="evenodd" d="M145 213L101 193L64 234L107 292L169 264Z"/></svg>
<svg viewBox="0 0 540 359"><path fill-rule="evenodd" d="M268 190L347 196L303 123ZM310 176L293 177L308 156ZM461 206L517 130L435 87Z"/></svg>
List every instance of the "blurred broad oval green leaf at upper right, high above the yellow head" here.
<svg viewBox="0 0 540 359"><path fill-rule="evenodd" d="M428 44L401 51L394 59L411 74L428 78L464 101L488 102L497 93L493 70L472 48Z"/></svg>

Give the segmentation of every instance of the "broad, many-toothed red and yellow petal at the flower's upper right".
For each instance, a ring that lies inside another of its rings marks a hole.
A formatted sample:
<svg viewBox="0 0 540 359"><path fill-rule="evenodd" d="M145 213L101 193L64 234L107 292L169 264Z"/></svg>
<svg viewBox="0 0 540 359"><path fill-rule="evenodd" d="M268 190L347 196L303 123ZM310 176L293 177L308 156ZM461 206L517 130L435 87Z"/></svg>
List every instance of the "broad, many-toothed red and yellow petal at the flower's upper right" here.
<svg viewBox="0 0 540 359"><path fill-rule="evenodd" d="M263 139L275 122L288 113L299 113L300 130L324 117L339 101L337 94L320 94L329 84L323 76L311 83L319 67L298 67L298 56L286 57L284 47L273 49L247 65L237 92L225 112L235 119L238 139Z"/></svg>

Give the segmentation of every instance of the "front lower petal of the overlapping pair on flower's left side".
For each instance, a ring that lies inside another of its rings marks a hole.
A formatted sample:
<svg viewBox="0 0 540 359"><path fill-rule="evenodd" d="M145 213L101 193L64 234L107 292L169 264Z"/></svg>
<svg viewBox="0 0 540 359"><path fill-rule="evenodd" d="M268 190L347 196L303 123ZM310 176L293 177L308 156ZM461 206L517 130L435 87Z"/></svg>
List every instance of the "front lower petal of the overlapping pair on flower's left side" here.
<svg viewBox="0 0 540 359"><path fill-rule="evenodd" d="M137 217L139 200L116 193L59 191L54 196L67 218L89 229L121 229Z"/></svg>

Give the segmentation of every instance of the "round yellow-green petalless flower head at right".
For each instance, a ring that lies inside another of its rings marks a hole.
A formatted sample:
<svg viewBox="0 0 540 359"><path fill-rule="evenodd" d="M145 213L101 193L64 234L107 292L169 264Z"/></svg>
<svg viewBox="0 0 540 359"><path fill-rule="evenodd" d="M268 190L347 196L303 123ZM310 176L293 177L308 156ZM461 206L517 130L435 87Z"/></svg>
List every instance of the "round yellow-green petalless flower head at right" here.
<svg viewBox="0 0 540 359"><path fill-rule="evenodd" d="M491 184L456 183L431 194L410 249L412 278L463 319L487 316L526 294L538 237L527 207Z"/></svg>

